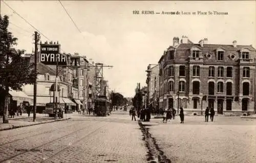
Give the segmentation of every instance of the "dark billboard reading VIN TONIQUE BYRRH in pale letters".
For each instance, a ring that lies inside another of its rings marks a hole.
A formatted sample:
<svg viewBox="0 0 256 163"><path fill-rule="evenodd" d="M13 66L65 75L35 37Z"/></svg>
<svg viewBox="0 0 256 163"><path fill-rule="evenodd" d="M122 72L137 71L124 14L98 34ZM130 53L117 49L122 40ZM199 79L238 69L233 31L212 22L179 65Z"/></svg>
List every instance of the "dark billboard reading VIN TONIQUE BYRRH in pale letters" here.
<svg viewBox="0 0 256 163"><path fill-rule="evenodd" d="M41 44L40 62L46 65L67 65L67 57L59 53L59 44Z"/></svg>

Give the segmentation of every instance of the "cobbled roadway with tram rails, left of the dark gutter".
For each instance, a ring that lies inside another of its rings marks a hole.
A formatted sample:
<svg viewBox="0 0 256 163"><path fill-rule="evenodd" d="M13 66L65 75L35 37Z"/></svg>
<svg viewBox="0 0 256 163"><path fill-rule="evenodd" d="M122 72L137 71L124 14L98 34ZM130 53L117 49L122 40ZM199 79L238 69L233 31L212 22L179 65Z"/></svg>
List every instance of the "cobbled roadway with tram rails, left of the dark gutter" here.
<svg viewBox="0 0 256 163"><path fill-rule="evenodd" d="M77 115L1 131L0 162L146 162L142 133L128 117Z"/></svg>

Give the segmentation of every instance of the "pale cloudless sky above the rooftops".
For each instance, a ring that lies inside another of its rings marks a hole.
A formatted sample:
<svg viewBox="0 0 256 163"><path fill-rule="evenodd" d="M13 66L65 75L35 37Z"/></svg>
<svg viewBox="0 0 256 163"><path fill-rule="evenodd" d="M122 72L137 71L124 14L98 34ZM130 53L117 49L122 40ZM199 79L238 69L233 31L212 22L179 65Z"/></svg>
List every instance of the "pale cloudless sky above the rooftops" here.
<svg viewBox="0 0 256 163"><path fill-rule="evenodd" d="M256 48L256 1L60 1L79 30L59 1L4 2L1 15L10 17L9 30L18 38L17 49L31 53L35 31L19 14L51 41L58 41L62 52L113 65L103 69L104 79L124 97L135 95L137 83L146 85L147 65L158 63L173 45L173 37L186 35L194 43L208 38L211 44L237 40L238 45ZM177 11L179 15L162 14ZM214 11L228 14L214 15ZM47 38L41 35L40 40Z"/></svg>

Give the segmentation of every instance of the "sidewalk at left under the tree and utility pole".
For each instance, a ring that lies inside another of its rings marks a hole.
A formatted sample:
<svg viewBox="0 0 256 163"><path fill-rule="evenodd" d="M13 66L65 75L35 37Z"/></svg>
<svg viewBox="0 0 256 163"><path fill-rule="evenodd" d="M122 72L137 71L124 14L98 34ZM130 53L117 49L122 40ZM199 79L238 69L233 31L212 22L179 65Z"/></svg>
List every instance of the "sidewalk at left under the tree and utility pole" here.
<svg viewBox="0 0 256 163"><path fill-rule="evenodd" d="M71 118L72 114L64 114L63 119L55 119L54 117L49 117L48 114L39 114L36 113L36 122L33 122L33 114L30 114L28 117L27 113L23 113L22 116L15 116L14 118L9 118L9 124L3 123L3 118L1 117L0 122L0 131L9 130L19 127L26 127L44 123L50 123L55 121L64 121Z"/></svg>

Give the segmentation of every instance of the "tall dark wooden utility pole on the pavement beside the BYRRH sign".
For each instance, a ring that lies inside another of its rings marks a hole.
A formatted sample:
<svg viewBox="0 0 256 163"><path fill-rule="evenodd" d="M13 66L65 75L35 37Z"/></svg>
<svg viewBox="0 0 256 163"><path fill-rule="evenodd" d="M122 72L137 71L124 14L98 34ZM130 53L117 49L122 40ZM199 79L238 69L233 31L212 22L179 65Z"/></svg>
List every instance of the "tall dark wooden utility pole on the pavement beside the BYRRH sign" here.
<svg viewBox="0 0 256 163"><path fill-rule="evenodd" d="M35 72L37 72L37 32L35 31L35 56L34 56L34 66L35 66ZM36 119L36 88L37 88L37 78L35 78L34 82L34 106L33 106L33 122L35 122Z"/></svg>

